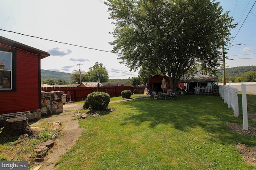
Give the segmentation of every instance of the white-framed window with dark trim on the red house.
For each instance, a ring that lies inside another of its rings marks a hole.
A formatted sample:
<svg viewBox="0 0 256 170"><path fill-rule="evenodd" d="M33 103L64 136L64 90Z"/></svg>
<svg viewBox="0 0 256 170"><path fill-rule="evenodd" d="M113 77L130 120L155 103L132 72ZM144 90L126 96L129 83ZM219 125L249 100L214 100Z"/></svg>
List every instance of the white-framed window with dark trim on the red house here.
<svg viewBox="0 0 256 170"><path fill-rule="evenodd" d="M12 50L2 51L0 49L0 91L15 90L14 85L14 56Z"/></svg>

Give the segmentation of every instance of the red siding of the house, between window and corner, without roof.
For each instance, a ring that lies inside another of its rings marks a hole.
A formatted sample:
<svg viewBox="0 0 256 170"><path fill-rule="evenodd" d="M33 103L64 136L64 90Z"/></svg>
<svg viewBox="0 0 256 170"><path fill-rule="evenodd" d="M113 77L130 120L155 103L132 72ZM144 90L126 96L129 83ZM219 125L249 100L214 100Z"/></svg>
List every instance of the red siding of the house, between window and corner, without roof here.
<svg viewBox="0 0 256 170"><path fill-rule="evenodd" d="M40 109L38 62L38 56L16 51L16 92L0 92L0 114Z"/></svg>

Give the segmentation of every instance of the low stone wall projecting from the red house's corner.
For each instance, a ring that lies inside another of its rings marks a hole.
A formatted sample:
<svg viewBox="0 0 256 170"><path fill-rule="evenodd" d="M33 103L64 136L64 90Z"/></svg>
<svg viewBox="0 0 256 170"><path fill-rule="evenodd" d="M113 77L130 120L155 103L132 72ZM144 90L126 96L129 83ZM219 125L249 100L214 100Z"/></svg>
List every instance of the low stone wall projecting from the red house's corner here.
<svg viewBox="0 0 256 170"><path fill-rule="evenodd" d="M41 92L42 115L53 115L63 112L63 92Z"/></svg>

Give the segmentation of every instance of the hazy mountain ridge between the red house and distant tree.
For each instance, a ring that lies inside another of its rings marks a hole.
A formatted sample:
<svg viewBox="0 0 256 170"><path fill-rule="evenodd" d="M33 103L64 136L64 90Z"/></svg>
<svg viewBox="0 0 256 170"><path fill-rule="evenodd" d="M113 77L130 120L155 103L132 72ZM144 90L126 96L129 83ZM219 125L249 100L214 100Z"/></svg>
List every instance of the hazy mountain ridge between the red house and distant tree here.
<svg viewBox="0 0 256 170"><path fill-rule="evenodd" d="M41 80L47 80L50 78L56 80L66 80L68 82L71 81L71 73L60 72L60 71L49 71L49 70L41 70Z"/></svg>

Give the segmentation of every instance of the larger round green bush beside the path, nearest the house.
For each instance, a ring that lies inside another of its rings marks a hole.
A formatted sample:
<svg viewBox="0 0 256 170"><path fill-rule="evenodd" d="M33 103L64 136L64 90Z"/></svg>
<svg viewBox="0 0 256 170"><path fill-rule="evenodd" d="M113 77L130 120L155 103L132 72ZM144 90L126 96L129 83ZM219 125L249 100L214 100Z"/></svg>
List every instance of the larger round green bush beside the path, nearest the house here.
<svg viewBox="0 0 256 170"><path fill-rule="evenodd" d="M108 108L110 102L110 96L104 92L92 92L87 96L87 102L84 102L85 108L91 106L92 110L105 110Z"/></svg>

